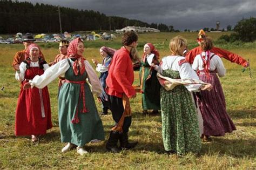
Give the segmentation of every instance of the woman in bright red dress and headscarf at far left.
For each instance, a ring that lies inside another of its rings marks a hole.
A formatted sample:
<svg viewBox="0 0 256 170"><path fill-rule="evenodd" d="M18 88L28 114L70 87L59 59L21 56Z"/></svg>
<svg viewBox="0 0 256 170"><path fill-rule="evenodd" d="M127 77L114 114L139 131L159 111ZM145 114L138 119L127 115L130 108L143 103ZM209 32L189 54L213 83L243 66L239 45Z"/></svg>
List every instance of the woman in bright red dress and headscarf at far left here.
<svg viewBox="0 0 256 170"><path fill-rule="evenodd" d="M25 60L19 65L15 78L22 87L36 75L41 75L49 65L42 59L38 45L31 44L26 49ZM52 127L48 88L21 89L18 97L15 119L15 135L31 135L38 141L38 135L45 134Z"/></svg>

